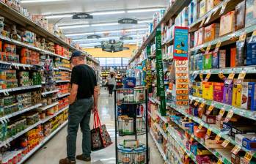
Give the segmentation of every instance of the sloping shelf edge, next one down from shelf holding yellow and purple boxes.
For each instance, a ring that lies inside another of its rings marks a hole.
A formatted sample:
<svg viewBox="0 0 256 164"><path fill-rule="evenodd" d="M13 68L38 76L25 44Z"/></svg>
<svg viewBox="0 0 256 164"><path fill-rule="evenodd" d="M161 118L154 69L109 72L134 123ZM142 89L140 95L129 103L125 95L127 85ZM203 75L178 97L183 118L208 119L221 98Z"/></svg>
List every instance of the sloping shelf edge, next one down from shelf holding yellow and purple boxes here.
<svg viewBox="0 0 256 164"><path fill-rule="evenodd" d="M172 104L167 104L169 107L174 108L176 111L182 113L184 116L188 117L189 119L192 119L194 122L197 122L198 124L202 124L203 127L206 129L210 129L213 133L216 135L220 135L222 138L225 140L230 141L233 145L238 145L236 141L233 138L230 138L227 134L224 134L222 130L219 127L216 127L213 124L207 124L202 119L196 117L196 116L191 116L189 113L186 113L186 109L189 108L188 106L177 106L177 105L172 105ZM256 157L256 152L249 151L248 149L244 148L243 146L241 147L245 152L251 152L254 157Z"/></svg>

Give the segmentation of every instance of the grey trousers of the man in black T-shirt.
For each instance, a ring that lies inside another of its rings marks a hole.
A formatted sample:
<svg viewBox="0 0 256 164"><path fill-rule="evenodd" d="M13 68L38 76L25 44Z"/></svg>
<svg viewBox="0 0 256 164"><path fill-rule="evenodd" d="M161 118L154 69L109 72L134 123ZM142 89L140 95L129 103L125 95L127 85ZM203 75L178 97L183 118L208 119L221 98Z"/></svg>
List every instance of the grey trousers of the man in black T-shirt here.
<svg viewBox="0 0 256 164"><path fill-rule="evenodd" d="M67 158L76 160L76 136L80 124L81 132L83 133L82 149L84 157L90 157L91 154L91 134L89 128L89 120L93 99L76 100L70 105L68 111L67 124Z"/></svg>

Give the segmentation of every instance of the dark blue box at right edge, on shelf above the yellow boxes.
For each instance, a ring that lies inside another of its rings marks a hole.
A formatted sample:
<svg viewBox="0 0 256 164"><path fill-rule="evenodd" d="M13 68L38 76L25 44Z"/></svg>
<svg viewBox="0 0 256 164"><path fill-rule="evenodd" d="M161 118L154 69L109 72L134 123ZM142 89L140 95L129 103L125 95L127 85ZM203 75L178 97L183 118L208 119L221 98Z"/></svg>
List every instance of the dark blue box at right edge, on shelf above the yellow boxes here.
<svg viewBox="0 0 256 164"><path fill-rule="evenodd" d="M246 46L246 65L256 65L256 37L249 37Z"/></svg>

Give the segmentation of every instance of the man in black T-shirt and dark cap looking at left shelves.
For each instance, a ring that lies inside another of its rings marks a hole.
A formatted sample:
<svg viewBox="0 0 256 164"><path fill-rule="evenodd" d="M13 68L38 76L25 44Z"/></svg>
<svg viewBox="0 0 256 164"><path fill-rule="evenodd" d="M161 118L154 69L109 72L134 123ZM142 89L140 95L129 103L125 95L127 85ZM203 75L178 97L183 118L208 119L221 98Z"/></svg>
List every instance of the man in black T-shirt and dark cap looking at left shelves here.
<svg viewBox="0 0 256 164"><path fill-rule="evenodd" d="M67 124L67 157L59 164L75 164L77 160L90 161L91 138L89 121L92 111L98 111L98 89L94 70L85 64L85 56L80 51L72 53L70 108ZM94 97L94 100L92 98ZM76 156L76 136L78 127L83 133L83 154Z"/></svg>

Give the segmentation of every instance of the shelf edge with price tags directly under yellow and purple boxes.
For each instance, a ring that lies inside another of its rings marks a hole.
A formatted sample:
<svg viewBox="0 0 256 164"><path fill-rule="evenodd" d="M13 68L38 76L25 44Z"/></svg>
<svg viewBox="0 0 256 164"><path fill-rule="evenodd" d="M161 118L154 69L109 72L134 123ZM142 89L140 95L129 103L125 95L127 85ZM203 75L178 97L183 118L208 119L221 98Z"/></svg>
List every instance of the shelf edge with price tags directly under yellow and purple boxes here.
<svg viewBox="0 0 256 164"><path fill-rule="evenodd" d="M197 102L200 103L205 103L207 105L213 105L215 108L219 108L219 109L223 109L224 111L233 111L233 113L235 113L238 116L244 116L248 119L253 119L256 120L256 111L249 111L243 108L236 108L233 105L228 105L228 104L224 104L224 103L219 103L217 101L214 100L205 100L203 98L200 97L194 97L194 96L189 96L190 100L195 100Z"/></svg>

